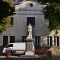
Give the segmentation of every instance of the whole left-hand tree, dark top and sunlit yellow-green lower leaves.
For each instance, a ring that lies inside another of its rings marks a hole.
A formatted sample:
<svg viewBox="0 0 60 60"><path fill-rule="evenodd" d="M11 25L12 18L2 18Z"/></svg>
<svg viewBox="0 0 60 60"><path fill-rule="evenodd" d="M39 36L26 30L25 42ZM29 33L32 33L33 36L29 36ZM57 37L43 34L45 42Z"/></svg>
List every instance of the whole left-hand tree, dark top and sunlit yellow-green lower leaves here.
<svg viewBox="0 0 60 60"><path fill-rule="evenodd" d="M9 26L10 15L13 14L12 0L0 0L0 33Z"/></svg>

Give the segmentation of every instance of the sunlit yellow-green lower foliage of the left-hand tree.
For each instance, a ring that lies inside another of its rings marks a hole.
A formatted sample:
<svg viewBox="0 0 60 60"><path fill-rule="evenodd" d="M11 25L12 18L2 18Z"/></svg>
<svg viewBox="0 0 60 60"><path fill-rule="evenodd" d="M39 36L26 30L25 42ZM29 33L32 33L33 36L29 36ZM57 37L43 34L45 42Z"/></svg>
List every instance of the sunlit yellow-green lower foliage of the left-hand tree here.
<svg viewBox="0 0 60 60"><path fill-rule="evenodd" d="M9 23L10 23L10 16L8 16L7 18L3 18L3 20L0 20L0 33L2 33L8 28Z"/></svg>

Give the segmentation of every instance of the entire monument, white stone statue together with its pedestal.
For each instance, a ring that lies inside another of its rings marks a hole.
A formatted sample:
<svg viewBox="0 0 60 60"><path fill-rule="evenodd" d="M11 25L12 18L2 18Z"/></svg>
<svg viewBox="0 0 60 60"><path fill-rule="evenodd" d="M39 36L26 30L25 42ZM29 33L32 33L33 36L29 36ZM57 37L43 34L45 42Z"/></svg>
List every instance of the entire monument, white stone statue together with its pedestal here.
<svg viewBox="0 0 60 60"><path fill-rule="evenodd" d="M26 38L26 52L25 55L35 55L34 48L34 39L32 38L32 25L29 23L28 25L28 36Z"/></svg>

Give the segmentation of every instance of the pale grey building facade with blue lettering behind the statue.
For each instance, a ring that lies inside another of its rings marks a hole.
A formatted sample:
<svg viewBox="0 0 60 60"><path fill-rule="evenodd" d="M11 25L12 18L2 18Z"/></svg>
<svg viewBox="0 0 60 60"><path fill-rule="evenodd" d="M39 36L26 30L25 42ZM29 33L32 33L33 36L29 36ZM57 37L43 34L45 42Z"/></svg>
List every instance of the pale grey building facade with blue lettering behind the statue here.
<svg viewBox="0 0 60 60"><path fill-rule="evenodd" d="M0 46L25 42L29 23L32 25L35 46L60 46L60 31L58 35L55 35L55 31L49 31L48 22L45 21L42 12L43 7L44 5L36 1L22 1L20 4L15 4L11 26L0 35Z"/></svg>

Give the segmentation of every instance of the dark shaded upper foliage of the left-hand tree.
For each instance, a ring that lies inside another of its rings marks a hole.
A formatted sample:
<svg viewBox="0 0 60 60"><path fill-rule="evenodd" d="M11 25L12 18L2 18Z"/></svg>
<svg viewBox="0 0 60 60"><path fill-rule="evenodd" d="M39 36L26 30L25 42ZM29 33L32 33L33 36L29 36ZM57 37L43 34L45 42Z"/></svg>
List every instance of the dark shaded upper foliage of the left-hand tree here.
<svg viewBox="0 0 60 60"><path fill-rule="evenodd" d="M6 0L8 1L8 0ZM12 14L12 10L13 10L13 5L11 3L8 3L6 2L5 0L4 1L1 1L0 2L0 16L1 16L1 19L3 17L7 17L9 15ZM9 0L11 1L11 0Z"/></svg>

